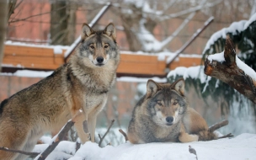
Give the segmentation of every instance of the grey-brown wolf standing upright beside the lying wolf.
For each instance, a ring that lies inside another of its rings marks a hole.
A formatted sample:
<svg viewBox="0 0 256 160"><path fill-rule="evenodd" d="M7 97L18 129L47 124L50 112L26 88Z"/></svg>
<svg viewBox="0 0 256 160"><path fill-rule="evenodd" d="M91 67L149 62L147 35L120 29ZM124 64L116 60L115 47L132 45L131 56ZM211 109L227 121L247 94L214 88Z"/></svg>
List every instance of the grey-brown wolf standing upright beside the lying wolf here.
<svg viewBox="0 0 256 160"><path fill-rule="evenodd" d="M96 118L106 104L120 62L115 38L114 24L100 31L83 24L81 43L67 64L0 104L0 147L29 152L40 136L60 130L79 109L83 117L75 123L77 134L83 143L88 141L83 131L83 121L88 120L94 141ZM24 158L0 151L1 160Z"/></svg>

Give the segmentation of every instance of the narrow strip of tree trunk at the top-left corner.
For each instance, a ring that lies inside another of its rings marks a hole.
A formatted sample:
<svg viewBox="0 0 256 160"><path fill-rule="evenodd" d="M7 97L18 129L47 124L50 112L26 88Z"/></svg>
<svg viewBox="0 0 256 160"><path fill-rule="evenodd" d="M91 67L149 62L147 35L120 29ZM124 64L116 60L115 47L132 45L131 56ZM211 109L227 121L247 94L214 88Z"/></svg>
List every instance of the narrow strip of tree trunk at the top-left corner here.
<svg viewBox="0 0 256 160"><path fill-rule="evenodd" d="M7 28L7 20L8 20L8 1L3 0L0 1L0 72L2 68L3 61L3 51L4 51L4 39Z"/></svg>

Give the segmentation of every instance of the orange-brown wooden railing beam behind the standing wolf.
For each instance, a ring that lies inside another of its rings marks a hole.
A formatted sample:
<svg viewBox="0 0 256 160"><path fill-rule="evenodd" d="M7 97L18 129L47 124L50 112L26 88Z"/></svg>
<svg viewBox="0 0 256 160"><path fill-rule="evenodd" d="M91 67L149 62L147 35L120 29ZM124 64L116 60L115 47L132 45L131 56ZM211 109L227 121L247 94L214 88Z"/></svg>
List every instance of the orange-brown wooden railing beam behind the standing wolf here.
<svg viewBox="0 0 256 160"><path fill-rule="evenodd" d="M54 53L54 46L45 47L39 45L5 45L3 67L22 67L27 69L55 70L64 64L64 53ZM168 69L176 67L191 67L201 64L200 56L179 56ZM165 60L158 60L156 55L141 55L125 53L121 51L120 66L117 73L122 75L138 76L166 76L167 64Z"/></svg>

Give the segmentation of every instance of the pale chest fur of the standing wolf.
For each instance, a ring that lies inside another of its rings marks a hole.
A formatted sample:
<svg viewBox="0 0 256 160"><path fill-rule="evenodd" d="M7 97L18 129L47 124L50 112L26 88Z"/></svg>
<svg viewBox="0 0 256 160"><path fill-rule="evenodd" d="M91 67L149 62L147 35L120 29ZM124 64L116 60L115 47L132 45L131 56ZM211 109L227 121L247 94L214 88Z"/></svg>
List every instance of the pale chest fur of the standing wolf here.
<svg viewBox="0 0 256 160"><path fill-rule="evenodd" d="M83 109L91 110L107 100L107 94L115 83L115 69L111 67L89 68L70 64L68 72L73 75L83 99ZM101 110L103 106L98 109Z"/></svg>

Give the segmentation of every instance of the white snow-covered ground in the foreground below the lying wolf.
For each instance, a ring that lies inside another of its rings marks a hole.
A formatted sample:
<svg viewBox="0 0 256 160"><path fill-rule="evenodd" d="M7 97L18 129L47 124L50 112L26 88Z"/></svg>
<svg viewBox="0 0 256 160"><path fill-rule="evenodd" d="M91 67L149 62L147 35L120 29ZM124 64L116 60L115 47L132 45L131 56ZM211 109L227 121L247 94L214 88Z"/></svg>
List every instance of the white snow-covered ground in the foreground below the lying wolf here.
<svg viewBox="0 0 256 160"><path fill-rule="evenodd" d="M189 145L195 149L199 160L256 159L256 134L248 133L243 133L231 139L225 138L215 141L194 141L189 143L165 142L138 145L131 144L128 141L117 147L107 146L103 148L98 147L97 143L89 141L74 155L75 143L61 141L59 146L56 147L56 152L52 152L47 159L59 159L56 157L67 157L69 160L195 159L195 155L189 152ZM67 152L68 154L61 152Z"/></svg>

